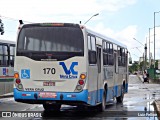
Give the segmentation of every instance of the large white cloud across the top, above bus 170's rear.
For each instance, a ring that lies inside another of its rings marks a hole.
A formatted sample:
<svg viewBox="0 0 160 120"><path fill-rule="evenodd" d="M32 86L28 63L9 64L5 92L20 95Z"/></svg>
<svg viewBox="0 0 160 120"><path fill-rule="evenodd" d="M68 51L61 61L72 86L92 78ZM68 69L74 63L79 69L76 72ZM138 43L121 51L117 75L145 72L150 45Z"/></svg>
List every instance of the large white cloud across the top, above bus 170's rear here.
<svg viewBox="0 0 160 120"><path fill-rule="evenodd" d="M136 0L1 0L0 15L28 21L78 21L102 11L117 11Z"/></svg>

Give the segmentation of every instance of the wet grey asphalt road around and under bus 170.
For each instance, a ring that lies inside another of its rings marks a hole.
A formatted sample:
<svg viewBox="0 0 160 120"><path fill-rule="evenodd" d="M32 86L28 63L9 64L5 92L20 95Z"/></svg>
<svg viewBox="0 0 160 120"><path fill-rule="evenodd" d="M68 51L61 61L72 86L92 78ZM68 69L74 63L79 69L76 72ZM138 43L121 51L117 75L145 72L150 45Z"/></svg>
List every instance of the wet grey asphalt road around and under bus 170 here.
<svg viewBox="0 0 160 120"><path fill-rule="evenodd" d="M79 110L76 107L63 106L58 113L44 111L42 105L30 105L17 103L13 98L0 99L0 111L12 111L12 118L0 118L11 120L46 120L46 119L83 119L83 120L158 120L154 111L153 101L160 98L160 85L152 83L142 83L135 75L130 75L129 92L124 96L123 104L117 104L116 100L111 101L103 113L97 112L96 108L88 111ZM17 111L18 113L13 113ZM0 112L0 114L2 114ZM32 117L36 113L37 118ZM23 115L23 118L21 118ZM25 118L25 115L27 116ZM30 116L28 118L28 115Z"/></svg>

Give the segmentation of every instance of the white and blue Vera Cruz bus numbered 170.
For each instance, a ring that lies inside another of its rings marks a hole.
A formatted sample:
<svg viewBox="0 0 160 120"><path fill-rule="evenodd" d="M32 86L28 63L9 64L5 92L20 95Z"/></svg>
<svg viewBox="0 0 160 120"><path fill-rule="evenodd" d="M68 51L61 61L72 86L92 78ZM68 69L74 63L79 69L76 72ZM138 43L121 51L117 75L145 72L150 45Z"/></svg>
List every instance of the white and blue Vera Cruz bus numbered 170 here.
<svg viewBox="0 0 160 120"><path fill-rule="evenodd" d="M20 25L14 71L15 101L45 110L66 104L104 111L128 92L127 46L74 23Z"/></svg>

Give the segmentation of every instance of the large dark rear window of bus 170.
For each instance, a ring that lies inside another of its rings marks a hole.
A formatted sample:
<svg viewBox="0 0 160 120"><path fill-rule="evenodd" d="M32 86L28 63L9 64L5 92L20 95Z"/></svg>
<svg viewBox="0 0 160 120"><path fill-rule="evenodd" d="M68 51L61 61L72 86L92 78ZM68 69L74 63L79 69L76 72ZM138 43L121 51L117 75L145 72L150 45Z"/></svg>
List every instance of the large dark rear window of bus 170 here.
<svg viewBox="0 0 160 120"><path fill-rule="evenodd" d="M17 55L40 60L45 59L46 54L54 54L54 59L58 60L83 56L84 39L80 27L40 25L22 27L18 37Z"/></svg>

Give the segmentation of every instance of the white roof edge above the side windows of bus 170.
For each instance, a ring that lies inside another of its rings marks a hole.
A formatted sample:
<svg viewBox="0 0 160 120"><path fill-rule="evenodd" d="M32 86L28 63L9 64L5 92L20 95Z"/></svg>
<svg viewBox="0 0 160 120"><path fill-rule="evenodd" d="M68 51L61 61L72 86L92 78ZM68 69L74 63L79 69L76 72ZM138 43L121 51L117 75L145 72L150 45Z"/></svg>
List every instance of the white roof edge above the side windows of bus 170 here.
<svg viewBox="0 0 160 120"><path fill-rule="evenodd" d="M115 39L112 39L112 38L109 38L109 37L107 37L107 36L105 36L105 35L102 35L102 34L100 34L100 33L94 32L94 31L92 31L92 30L90 30L90 29L88 29L88 28L86 28L86 30L87 30L88 32L93 33L94 35L96 35L96 36L104 39L104 40L107 40L107 41L109 41L109 42L111 42L111 43L114 43L114 44L116 44L116 45L118 45L118 46L121 46L121 47L123 47L123 48L127 48L126 45L122 44L121 42L119 42L119 41L117 41L117 40L115 40Z"/></svg>

